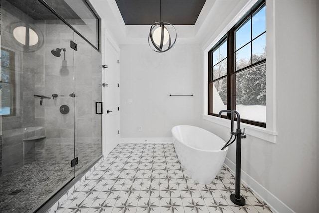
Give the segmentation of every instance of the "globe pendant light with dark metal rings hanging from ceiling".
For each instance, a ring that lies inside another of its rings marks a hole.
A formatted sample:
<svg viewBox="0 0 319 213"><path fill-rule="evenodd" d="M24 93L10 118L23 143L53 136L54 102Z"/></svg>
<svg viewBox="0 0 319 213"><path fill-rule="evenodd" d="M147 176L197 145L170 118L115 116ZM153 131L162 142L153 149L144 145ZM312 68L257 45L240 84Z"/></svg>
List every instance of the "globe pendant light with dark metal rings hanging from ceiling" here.
<svg viewBox="0 0 319 213"><path fill-rule="evenodd" d="M177 32L175 27L170 23L161 21L161 0L160 0L160 22L153 23L150 28L149 39L148 39L149 46L155 52L166 52L174 46L174 44L176 43L176 39L177 39Z"/></svg>

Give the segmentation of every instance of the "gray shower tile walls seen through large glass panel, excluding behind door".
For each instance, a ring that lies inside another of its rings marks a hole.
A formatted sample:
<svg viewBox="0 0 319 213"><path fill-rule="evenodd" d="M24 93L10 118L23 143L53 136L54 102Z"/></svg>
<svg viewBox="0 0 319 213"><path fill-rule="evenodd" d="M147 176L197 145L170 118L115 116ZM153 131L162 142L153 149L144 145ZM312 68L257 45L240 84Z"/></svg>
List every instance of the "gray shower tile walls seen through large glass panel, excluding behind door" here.
<svg viewBox="0 0 319 213"><path fill-rule="evenodd" d="M2 2L2 1L1 1ZM69 96L73 87L73 50L70 49L70 40L74 39L73 30L60 20L33 20L8 2L3 1L2 10L2 46L16 54L16 116L3 117L2 129L19 129L25 127L45 127L46 139L37 146L36 160L49 158L65 158L74 153L74 103ZM14 15L12 15L14 14ZM16 17L20 14L20 17ZM24 22L35 24L43 34L44 44L35 52L23 52L12 36L12 23ZM35 23L36 22L36 23ZM60 57L51 54L52 49L67 48L65 59L63 51ZM63 67L62 67L63 62ZM62 69L64 68L64 69ZM65 93L65 94L64 94ZM49 96L44 99L42 106L36 95ZM53 99L52 94L59 97ZM70 112L62 115L59 108L62 104L70 107ZM14 145L3 146L4 168L13 170L23 164L23 136L16 139ZM32 142L30 142L32 143Z"/></svg>

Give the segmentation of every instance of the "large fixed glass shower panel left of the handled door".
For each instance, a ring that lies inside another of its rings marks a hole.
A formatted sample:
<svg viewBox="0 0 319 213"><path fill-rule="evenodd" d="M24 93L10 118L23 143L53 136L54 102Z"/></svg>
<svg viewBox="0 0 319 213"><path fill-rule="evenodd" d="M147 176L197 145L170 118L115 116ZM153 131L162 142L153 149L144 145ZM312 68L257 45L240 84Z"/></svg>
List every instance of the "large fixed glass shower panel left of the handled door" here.
<svg viewBox="0 0 319 213"><path fill-rule="evenodd" d="M39 1L0 3L0 212L24 213L75 175L74 32Z"/></svg>

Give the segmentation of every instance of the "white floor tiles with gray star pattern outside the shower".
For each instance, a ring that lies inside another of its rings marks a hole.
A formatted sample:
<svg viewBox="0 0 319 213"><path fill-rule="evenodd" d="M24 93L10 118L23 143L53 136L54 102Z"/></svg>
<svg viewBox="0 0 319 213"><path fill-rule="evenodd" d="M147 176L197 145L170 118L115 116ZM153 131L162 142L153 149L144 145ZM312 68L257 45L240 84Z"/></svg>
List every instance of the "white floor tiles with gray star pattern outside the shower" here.
<svg viewBox="0 0 319 213"><path fill-rule="evenodd" d="M272 213L247 186L234 205L234 174L223 166L208 185L181 168L173 144L119 144L56 213Z"/></svg>

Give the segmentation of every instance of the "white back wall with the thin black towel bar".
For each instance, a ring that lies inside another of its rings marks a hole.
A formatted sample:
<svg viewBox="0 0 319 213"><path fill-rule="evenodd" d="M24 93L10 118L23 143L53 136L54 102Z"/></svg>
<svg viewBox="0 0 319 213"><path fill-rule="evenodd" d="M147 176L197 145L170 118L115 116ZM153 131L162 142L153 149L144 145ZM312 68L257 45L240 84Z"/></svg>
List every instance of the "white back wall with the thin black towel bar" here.
<svg viewBox="0 0 319 213"><path fill-rule="evenodd" d="M154 52L148 44L125 44L120 49L121 138L171 137L175 125L200 124L198 45L176 43L165 53Z"/></svg>

